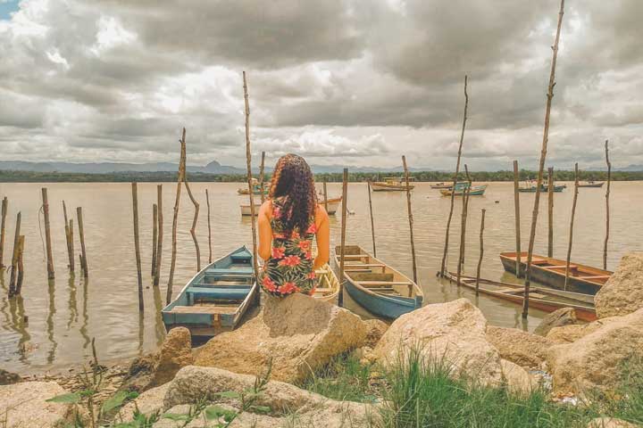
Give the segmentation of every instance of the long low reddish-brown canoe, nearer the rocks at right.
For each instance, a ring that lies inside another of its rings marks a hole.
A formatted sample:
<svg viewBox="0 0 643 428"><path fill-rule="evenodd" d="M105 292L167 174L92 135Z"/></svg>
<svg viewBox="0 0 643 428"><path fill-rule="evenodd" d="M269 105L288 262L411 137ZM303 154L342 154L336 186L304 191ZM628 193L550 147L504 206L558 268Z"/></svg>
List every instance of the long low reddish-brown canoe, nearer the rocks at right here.
<svg viewBox="0 0 643 428"><path fill-rule="evenodd" d="M457 283L457 276L449 272L447 277ZM460 276L460 285L475 290L476 278L473 276ZM524 285L501 283L480 278L479 291L497 299L511 301L522 305L524 300ZM594 308L594 296L579 292L563 292L561 290L547 289L545 287L530 287L530 308L540 309L545 312L554 312L561 308L573 308L576 317L583 321L597 319Z"/></svg>

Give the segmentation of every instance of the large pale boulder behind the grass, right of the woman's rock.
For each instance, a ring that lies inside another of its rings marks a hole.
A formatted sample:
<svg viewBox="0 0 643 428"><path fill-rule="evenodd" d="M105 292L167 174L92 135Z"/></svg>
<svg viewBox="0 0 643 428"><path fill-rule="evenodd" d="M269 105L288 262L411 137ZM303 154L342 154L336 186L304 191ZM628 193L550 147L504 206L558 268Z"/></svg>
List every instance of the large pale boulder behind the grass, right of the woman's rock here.
<svg viewBox="0 0 643 428"><path fill-rule="evenodd" d="M386 366L419 350L425 361L446 363L454 375L502 383L501 358L486 332L487 320L480 309L469 300L459 299L427 305L397 318L374 353Z"/></svg>

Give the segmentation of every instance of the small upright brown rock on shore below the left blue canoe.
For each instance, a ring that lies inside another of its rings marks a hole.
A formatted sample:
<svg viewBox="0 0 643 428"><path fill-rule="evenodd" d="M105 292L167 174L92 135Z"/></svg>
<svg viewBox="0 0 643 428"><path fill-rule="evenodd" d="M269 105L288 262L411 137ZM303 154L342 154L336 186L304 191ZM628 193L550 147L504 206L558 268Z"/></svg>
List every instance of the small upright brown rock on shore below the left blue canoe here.
<svg viewBox="0 0 643 428"><path fill-rule="evenodd" d="M176 327L165 336L159 353L158 364L154 367L152 386L170 382L181 367L194 364L192 337L185 327Z"/></svg>

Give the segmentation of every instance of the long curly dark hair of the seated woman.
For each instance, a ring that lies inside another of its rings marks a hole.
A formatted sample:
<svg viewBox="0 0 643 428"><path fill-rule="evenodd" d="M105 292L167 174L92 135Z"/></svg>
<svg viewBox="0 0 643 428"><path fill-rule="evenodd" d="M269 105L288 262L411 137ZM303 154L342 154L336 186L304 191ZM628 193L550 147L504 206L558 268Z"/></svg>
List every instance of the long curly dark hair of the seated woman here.
<svg viewBox="0 0 643 428"><path fill-rule="evenodd" d="M280 157L272 173L270 198L283 197L284 230L305 232L317 209L313 172L296 154Z"/></svg>

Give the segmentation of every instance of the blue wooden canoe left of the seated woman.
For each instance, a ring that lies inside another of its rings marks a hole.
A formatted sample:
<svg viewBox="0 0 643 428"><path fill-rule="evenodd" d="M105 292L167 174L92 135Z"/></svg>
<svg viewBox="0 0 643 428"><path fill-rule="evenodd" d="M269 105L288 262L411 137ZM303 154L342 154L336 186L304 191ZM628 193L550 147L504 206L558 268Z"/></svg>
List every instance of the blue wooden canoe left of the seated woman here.
<svg viewBox="0 0 643 428"><path fill-rule="evenodd" d="M193 336L213 336L237 326L257 297L252 252L244 246L196 274L163 308L163 324L167 331L183 326Z"/></svg>

